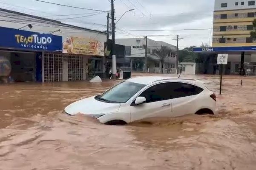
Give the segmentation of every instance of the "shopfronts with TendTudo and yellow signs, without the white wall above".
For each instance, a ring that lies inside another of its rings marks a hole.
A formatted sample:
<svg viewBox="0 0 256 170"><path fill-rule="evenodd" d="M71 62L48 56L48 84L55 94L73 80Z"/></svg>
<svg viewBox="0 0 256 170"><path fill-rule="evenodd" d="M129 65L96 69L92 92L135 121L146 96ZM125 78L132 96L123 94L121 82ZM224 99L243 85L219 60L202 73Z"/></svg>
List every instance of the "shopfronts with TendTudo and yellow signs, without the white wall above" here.
<svg viewBox="0 0 256 170"><path fill-rule="evenodd" d="M15 82L81 81L97 74L104 75L102 41L5 27L0 27L0 36L1 79L10 78Z"/></svg>

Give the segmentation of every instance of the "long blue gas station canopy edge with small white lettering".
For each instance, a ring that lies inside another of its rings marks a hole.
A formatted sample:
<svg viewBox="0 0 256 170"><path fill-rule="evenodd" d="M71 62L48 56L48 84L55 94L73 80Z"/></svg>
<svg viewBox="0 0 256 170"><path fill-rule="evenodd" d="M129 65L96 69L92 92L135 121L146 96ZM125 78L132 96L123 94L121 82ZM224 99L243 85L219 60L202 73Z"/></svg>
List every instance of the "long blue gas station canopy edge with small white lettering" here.
<svg viewBox="0 0 256 170"><path fill-rule="evenodd" d="M193 47L193 52L236 52L236 51L256 51L256 46L241 47Z"/></svg>

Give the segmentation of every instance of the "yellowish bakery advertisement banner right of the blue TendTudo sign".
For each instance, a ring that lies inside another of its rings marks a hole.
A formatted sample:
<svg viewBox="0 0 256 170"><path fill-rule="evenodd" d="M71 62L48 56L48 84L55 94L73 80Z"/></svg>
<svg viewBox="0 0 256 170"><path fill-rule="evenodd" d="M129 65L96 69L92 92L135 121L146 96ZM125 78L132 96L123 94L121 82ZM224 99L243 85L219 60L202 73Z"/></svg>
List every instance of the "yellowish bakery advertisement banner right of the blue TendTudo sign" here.
<svg viewBox="0 0 256 170"><path fill-rule="evenodd" d="M104 56L104 42L69 36L63 39L63 53Z"/></svg>

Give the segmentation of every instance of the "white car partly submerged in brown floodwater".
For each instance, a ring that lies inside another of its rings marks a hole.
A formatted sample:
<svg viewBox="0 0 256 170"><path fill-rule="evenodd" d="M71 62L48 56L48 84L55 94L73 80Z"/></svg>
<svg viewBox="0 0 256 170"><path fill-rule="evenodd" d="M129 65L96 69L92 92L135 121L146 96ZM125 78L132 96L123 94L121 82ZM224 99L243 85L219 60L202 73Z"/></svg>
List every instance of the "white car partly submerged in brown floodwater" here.
<svg viewBox="0 0 256 170"><path fill-rule="evenodd" d="M152 117L216 114L216 95L202 81L143 76L123 81L102 95L67 106L69 115L86 114L108 125Z"/></svg>

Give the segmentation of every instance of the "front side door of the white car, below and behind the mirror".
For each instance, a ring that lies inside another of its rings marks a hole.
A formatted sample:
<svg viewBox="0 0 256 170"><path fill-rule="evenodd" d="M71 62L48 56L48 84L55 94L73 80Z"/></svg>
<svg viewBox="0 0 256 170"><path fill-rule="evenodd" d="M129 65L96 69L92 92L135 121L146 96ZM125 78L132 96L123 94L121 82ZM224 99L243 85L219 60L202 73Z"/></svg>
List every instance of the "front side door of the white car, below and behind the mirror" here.
<svg viewBox="0 0 256 170"><path fill-rule="evenodd" d="M140 95L146 102L130 106L131 121L150 117L171 117L170 83L160 83L150 86Z"/></svg>

